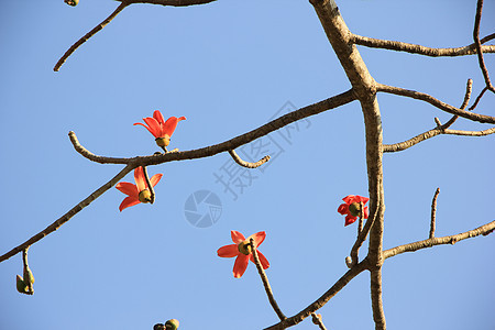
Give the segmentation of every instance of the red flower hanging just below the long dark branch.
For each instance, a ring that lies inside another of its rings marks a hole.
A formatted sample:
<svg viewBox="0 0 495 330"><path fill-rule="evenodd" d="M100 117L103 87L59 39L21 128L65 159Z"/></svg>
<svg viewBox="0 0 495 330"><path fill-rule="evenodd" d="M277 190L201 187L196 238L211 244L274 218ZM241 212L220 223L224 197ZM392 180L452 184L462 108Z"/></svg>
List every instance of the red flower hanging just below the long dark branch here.
<svg viewBox="0 0 495 330"><path fill-rule="evenodd" d="M162 176L163 174L155 174L150 178L150 183L153 187L156 186ZM116 186L117 189L128 195L128 197L125 197L119 206L119 210L121 212L123 209L135 206L140 202L151 201L151 193L146 186L143 167L140 166L134 169L134 180L135 185L131 183L118 183Z"/></svg>

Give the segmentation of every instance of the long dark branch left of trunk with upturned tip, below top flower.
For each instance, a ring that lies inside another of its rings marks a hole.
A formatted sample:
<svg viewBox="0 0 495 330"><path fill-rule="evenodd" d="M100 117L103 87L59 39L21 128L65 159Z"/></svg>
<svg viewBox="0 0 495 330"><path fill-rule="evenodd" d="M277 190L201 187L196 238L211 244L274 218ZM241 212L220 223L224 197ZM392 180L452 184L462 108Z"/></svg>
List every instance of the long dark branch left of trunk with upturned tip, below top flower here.
<svg viewBox="0 0 495 330"><path fill-rule="evenodd" d="M342 92L338 96L331 97L329 99L322 100L318 103L307 106L305 108L300 108L298 110L295 110L293 112L289 112L287 114L284 114L275 120L272 120L271 122L252 130L251 132L248 132L245 134L235 136L233 139L230 139L226 142L191 150L191 151L184 151L184 152L176 152L176 153L166 153L166 154L160 154L160 155L152 155L152 156L139 156L139 157L132 157L132 158L113 158L113 157L102 157L97 156L87 150L85 150L78 142L76 134L74 132L69 133L70 141L74 144L74 147L77 152L79 152L82 156L86 158L97 162L100 164L134 164L134 167L136 166L148 166L148 165L158 165L167 162L174 162L174 161L183 161L183 160L196 160L196 158L204 158L204 157L210 157L216 154L228 152L230 150L234 150L243 144L250 143L258 138L262 138L264 135L267 135L278 129L282 129L295 121L298 121L300 119L315 116L318 113L321 113L327 110L336 109L338 107L341 107L343 105L350 103L356 99L353 90L348 90L345 92Z"/></svg>

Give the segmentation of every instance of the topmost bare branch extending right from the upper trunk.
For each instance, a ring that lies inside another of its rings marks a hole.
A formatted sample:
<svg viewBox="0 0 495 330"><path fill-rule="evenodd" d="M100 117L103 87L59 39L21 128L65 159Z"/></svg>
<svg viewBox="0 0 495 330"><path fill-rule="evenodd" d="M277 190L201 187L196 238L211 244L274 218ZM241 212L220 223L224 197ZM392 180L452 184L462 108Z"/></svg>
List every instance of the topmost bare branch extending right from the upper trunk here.
<svg viewBox="0 0 495 330"><path fill-rule="evenodd" d="M495 38L495 33L487 35L482 40L483 42L488 42L491 40ZM426 55L431 57L440 57L440 56L464 56L464 55L474 55L477 53L476 51L476 44L471 44L469 46L464 47L457 47L457 48L431 48L431 47L425 47L417 44L409 44L409 43L403 43L397 41L389 41L389 40L380 40L380 38L373 38L367 36L361 36L358 34L353 34L351 36L351 40L354 44L372 47L372 48L383 48L383 50L389 50L389 51L397 51L397 52L406 52L406 53L413 53L413 54L419 54L419 55ZM482 46L481 50L483 53L495 53L495 45L487 45Z"/></svg>

